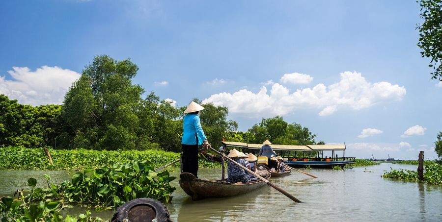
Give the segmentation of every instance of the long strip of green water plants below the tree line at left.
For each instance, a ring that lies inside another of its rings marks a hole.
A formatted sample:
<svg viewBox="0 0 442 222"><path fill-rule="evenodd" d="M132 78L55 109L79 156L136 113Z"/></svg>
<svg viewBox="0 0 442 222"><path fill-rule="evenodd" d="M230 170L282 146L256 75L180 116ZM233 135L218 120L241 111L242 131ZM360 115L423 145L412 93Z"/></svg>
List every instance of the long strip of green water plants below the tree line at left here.
<svg viewBox="0 0 442 222"><path fill-rule="evenodd" d="M54 165L49 164L43 148L5 147L0 148L0 170L56 170L80 171L115 163L149 161L155 168L180 158L179 153L162 150L91 150L91 149L48 149ZM176 163L173 167L179 167ZM200 160L201 168L221 168L218 163Z"/></svg>

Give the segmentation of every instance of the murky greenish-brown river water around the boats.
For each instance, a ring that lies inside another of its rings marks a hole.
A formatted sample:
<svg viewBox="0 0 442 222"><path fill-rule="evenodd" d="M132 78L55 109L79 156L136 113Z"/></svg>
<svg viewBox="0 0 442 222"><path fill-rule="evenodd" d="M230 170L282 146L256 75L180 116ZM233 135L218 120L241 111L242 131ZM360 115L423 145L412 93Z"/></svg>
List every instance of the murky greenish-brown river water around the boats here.
<svg viewBox="0 0 442 222"><path fill-rule="evenodd" d="M302 173L271 178L270 181L304 203L295 203L270 186L252 193L230 198L192 201L172 181L177 189L167 205L172 221L179 222L240 222L240 221L442 221L442 186L384 179L384 170L410 169L415 165L383 163L352 170L304 170ZM179 178L179 169L171 174ZM54 183L70 179L73 172L46 171ZM199 169L204 179L219 179L220 169ZM27 188L28 177L37 179L37 186L46 185L41 171L0 171L0 196L11 195L18 188ZM68 209L79 214L85 208ZM113 211L92 212L111 218Z"/></svg>

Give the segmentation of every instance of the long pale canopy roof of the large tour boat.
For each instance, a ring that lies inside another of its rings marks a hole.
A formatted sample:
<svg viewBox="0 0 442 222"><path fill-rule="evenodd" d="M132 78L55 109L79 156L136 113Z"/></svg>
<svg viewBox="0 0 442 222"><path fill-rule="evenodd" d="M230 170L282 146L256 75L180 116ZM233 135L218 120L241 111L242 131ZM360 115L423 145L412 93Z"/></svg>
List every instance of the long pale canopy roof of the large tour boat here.
<svg viewBox="0 0 442 222"><path fill-rule="evenodd" d="M227 147L236 147L236 148L249 148L249 149L261 149L263 146L262 144L248 144L248 143L241 143L241 142L228 142L228 141L222 141L222 144L224 144ZM277 145L272 144L270 145L273 150L288 150L288 151L319 151L319 150L345 150L345 145L303 145L303 146L296 146L296 145Z"/></svg>

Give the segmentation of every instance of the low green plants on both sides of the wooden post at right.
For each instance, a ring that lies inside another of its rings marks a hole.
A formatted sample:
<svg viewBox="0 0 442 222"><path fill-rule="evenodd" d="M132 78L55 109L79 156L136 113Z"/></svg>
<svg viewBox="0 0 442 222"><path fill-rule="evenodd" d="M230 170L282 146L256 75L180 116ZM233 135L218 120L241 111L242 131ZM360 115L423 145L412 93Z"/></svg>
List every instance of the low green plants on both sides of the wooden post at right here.
<svg viewBox="0 0 442 222"><path fill-rule="evenodd" d="M384 171L384 178L397 178L403 179L407 181L417 181L417 171L411 170L394 170L390 167L391 171ZM423 173L425 183L429 184L442 184L442 165L430 162L425 165L424 173Z"/></svg>

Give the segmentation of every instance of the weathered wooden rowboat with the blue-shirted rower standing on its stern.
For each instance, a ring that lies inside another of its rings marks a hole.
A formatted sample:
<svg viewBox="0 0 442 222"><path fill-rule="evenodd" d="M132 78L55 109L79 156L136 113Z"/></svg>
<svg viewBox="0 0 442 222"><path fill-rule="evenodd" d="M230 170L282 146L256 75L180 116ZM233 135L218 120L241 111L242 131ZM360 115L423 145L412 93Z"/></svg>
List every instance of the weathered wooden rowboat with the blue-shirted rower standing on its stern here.
<svg viewBox="0 0 442 222"><path fill-rule="evenodd" d="M270 173L261 174L265 179L270 178ZM233 197L254 191L266 183L260 179L242 184L229 183L226 180L203 180L196 178L192 173L180 174L180 186L192 197L192 200L204 198Z"/></svg>

